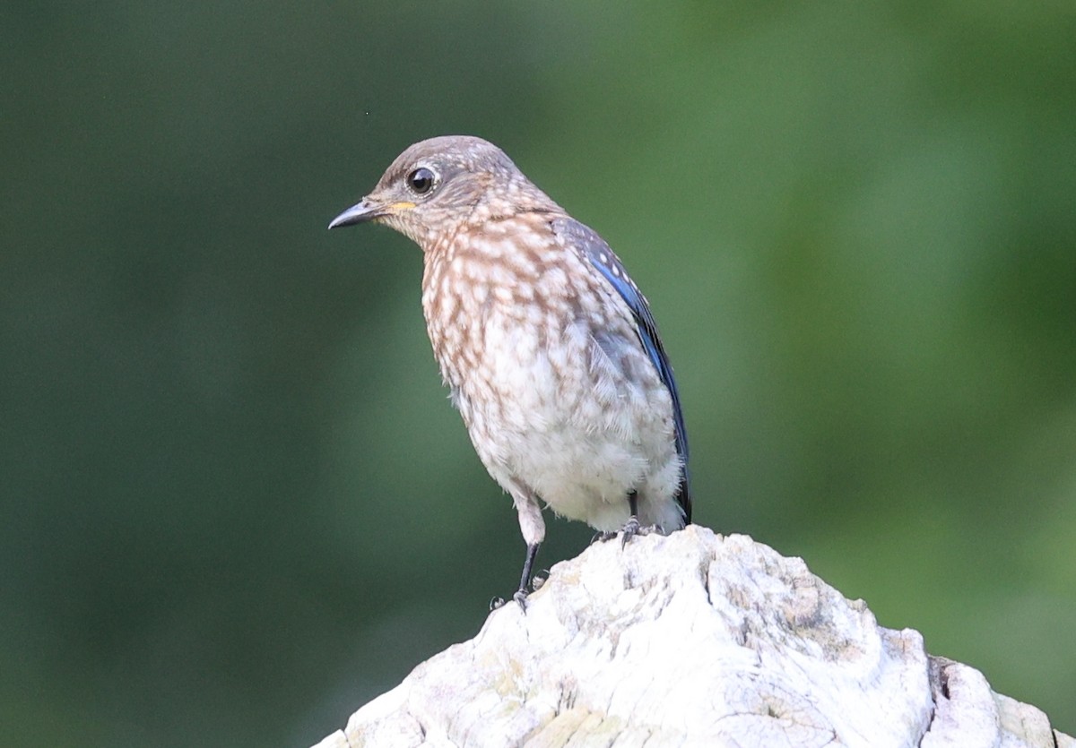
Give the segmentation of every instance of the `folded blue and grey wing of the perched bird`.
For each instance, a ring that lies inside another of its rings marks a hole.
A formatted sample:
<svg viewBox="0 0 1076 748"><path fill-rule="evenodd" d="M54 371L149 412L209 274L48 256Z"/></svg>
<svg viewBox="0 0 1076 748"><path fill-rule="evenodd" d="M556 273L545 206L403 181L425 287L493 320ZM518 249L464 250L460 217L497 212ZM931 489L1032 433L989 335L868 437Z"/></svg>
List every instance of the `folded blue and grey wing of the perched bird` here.
<svg viewBox="0 0 1076 748"><path fill-rule="evenodd" d="M615 289L620 298L624 300L632 316L635 319L635 331L639 336L642 348L647 351L651 363L657 370L662 382L672 398L672 422L676 429L676 450L683 463L683 471L680 475L680 486L677 489L676 500L683 508L684 519L691 521L691 480L688 474L688 431L683 425L683 412L680 409L680 393L676 388L676 379L672 377L672 365L669 363L665 348L662 346L661 335L657 334L657 325L654 322L654 315L650 312L650 304L646 297L639 291L628 276L627 271L621 263L620 258L613 254L605 240L598 236L597 232L574 218L554 218L550 221L553 233L565 247L574 249L579 256L597 270L601 277Z"/></svg>

